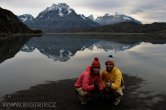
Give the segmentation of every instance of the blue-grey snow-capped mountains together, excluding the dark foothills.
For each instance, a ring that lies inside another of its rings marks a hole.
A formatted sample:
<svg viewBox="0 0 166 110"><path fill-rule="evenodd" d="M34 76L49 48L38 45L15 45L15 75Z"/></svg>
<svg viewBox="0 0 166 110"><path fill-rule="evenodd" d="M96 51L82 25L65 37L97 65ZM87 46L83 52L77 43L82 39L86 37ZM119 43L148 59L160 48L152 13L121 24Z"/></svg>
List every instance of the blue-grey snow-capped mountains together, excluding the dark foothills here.
<svg viewBox="0 0 166 110"><path fill-rule="evenodd" d="M41 29L44 32L78 32L87 28L122 22L142 24L130 16L118 13L115 15L105 14L96 19L93 18L93 15L85 17L83 14L77 14L66 3L47 7L36 18L30 14L20 15L18 18L30 28Z"/></svg>

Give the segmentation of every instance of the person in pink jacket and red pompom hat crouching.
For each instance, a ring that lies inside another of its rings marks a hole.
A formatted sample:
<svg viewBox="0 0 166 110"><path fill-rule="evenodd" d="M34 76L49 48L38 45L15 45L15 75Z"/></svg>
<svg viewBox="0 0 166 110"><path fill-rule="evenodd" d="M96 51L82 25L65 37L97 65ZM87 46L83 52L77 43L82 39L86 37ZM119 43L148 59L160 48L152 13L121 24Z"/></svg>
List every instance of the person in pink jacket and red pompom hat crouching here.
<svg viewBox="0 0 166 110"><path fill-rule="evenodd" d="M91 97L94 93L93 91L103 90L103 83L99 72L100 62L99 59L95 57L92 65L88 66L75 82L75 89L81 104L87 103L87 99Z"/></svg>

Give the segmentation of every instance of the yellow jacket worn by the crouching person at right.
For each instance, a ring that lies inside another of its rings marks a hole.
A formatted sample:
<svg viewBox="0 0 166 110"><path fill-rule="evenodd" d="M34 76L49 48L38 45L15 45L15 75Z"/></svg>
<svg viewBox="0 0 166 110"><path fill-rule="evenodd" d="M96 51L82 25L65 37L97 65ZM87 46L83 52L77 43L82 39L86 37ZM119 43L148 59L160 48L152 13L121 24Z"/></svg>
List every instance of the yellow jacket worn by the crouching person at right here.
<svg viewBox="0 0 166 110"><path fill-rule="evenodd" d="M107 72L106 68L103 69L101 73L101 80L103 81L103 84L105 85L107 82L112 82L111 88L113 90L118 90L121 87L121 81L123 80L123 76L121 71L114 66L113 70L111 72Z"/></svg>

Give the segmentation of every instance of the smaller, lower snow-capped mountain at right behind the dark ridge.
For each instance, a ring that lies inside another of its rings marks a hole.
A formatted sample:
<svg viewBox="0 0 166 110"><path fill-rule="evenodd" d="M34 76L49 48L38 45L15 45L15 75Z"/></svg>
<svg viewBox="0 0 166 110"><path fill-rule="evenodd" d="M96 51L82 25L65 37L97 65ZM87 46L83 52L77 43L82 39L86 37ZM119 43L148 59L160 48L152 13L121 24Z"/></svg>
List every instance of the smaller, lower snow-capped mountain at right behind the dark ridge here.
<svg viewBox="0 0 166 110"><path fill-rule="evenodd" d="M118 14L117 12L115 15L105 14L104 16L97 17L94 21L101 25L118 24L123 22L135 22L137 24L142 24L140 21L130 16Z"/></svg>

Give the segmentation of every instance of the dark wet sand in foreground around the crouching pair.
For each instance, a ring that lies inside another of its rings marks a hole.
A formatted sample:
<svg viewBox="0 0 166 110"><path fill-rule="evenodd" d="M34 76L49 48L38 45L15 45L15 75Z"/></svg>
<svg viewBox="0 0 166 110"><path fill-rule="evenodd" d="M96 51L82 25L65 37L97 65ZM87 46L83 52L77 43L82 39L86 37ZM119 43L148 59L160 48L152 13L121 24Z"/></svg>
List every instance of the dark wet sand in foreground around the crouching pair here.
<svg viewBox="0 0 166 110"><path fill-rule="evenodd" d="M141 92L144 80L124 74L126 88L119 106L113 106L109 100L90 102L80 105L73 85L75 79L48 82L15 92L4 97L3 102L56 102L56 107L11 107L0 104L0 110L166 110L166 95L149 95Z"/></svg>

